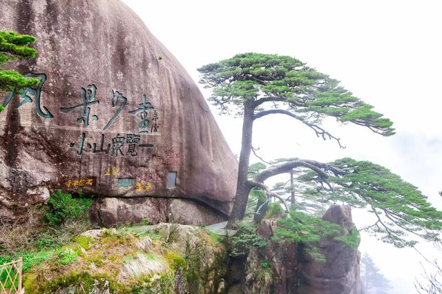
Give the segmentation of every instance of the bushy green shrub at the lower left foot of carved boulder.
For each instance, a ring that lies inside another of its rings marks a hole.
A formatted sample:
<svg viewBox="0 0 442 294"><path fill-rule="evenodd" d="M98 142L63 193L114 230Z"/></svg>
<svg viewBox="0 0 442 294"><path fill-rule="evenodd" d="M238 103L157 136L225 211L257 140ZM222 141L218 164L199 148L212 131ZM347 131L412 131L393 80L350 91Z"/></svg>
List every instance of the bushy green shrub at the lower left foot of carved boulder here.
<svg viewBox="0 0 442 294"><path fill-rule="evenodd" d="M49 210L44 215L44 219L51 226L58 226L76 219L88 219L92 199L84 198L82 195L81 190L79 190L79 198L73 198L71 194L57 190L48 199Z"/></svg>

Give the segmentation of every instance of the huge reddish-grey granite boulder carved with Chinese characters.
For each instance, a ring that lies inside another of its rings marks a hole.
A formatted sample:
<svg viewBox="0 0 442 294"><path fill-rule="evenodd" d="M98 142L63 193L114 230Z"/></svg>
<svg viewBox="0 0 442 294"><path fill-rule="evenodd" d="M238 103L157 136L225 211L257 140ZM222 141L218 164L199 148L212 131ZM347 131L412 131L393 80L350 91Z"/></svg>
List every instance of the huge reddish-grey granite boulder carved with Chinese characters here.
<svg viewBox="0 0 442 294"><path fill-rule="evenodd" d="M229 214L236 158L191 77L133 11L118 0L1 6L0 30L37 37L37 58L6 67L40 83L0 94L0 217L80 188Z"/></svg>

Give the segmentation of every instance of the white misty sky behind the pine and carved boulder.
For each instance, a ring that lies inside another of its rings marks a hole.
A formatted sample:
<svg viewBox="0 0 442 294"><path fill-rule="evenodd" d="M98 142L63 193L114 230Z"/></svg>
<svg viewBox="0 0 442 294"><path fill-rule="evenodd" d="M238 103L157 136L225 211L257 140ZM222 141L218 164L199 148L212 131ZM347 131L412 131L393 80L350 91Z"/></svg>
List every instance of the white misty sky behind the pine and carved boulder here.
<svg viewBox="0 0 442 294"><path fill-rule="evenodd" d="M442 209L439 1L124 2L195 82L196 68L237 53L290 55L342 81L354 95L392 119L396 128L396 135L385 138L366 128L330 122L334 135L347 146L342 150L289 117L269 116L256 121L253 134L253 146L266 159L373 161L418 186ZM241 120L216 113L213 109L233 153L239 154ZM354 211L357 226L365 221L364 214ZM421 248L433 257L441 255L431 246ZM392 281L390 293L416 292L414 277L421 266L412 249L396 249L363 235L359 250L371 255Z"/></svg>

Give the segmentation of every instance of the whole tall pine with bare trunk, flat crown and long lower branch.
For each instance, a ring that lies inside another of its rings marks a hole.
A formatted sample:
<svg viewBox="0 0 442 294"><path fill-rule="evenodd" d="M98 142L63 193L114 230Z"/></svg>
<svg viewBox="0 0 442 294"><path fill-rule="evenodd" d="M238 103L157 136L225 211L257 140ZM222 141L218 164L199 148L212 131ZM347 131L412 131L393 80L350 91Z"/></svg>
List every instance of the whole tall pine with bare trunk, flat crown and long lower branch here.
<svg viewBox="0 0 442 294"><path fill-rule="evenodd" d="M265 170L249 173L253 122L267 115L292 117L318 137L336 141L341 148L340 139L321 124L326 117L365 126L379 135L394 135L390 119L339 86L336 79L292 57L258 53L236 55L198 70L202 74L200 82L213 88L209 99L213 105L222 114L234 111L243 117L238 183L229 226L244 217L251 189L260 189L267 197L279 199L289 211L284 197L264 182L296 169L296 185L305 186L302 194L309 195L314 202L328 204L340 200L354 207L369 208L376 221L363 229L380 235L385 242L397 247L413 246L416 241L408 239L407 233L432 241L439 239L442 213L416 187L369 161L344 158L325 164L310 159L280 159Z"/></svg>

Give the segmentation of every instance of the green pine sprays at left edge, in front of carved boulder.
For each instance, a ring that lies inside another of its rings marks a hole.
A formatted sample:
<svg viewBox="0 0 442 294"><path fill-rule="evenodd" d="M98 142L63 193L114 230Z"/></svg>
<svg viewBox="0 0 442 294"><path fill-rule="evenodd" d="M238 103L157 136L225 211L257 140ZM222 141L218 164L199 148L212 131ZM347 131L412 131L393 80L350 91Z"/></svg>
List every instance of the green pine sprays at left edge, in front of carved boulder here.
<svg viewBox="0 0 442 294"><path fill-rule="evenodd" d="M35 37L30 35L0 30L0 65L8 61L35 58L37 50L29 47L35 40ZM37 83L37 79L23 77L14 70L0 68L0 91L19 91L21 88L34 86ZM3 109L2 106L0 111Z"/></svg>

